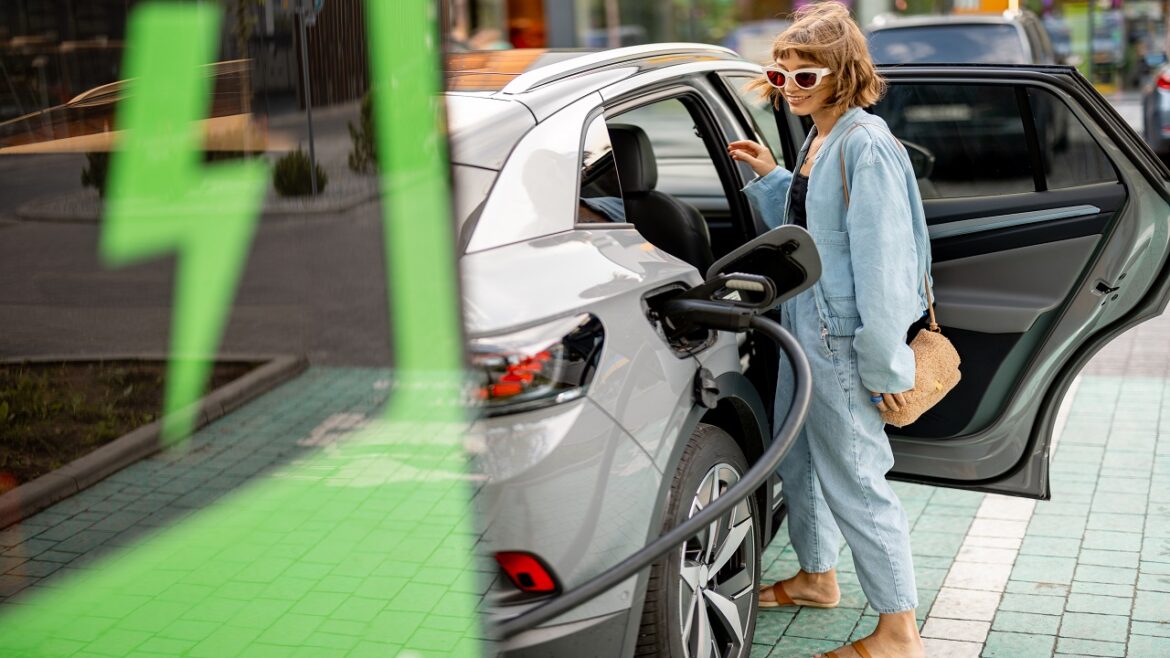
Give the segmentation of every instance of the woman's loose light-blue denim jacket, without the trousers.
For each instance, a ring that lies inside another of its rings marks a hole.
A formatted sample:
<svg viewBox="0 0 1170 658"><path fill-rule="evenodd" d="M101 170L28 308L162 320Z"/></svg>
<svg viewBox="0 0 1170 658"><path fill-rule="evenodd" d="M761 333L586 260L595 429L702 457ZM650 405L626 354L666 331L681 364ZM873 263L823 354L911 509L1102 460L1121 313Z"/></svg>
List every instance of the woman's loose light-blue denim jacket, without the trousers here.
<svg viewBox="0 0 1170 658"><path fill-rule="evenodd" d="M793 171L815 133L813 128ZM792 172L776 167L743 190L770 227L790 221L791 181ZM837 121L808 178L805 207L821 260L813 286L821 330L853 336L861 382L870 391L913 389L906 331L927 308L930 238L910 158L881 117L853 108Z"/></svg>

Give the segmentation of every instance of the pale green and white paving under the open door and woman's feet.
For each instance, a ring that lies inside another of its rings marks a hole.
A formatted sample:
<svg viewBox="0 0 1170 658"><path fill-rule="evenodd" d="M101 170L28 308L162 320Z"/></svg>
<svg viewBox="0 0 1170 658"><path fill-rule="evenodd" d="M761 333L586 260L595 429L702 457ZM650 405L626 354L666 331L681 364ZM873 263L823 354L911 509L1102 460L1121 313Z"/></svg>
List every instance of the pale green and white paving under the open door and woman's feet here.
<svg viewBox="0 0 1170 658"><path fill-rule="evenodd" d="M1170 316L1099 354L1066 399L1051 501L897 484L929 658L1170 656ZM1058 420L1060 430L1061 420ZM797 569L787 530L764 576ZM835 610L760 612L753 658L872 632L848 549Z"/></svg>

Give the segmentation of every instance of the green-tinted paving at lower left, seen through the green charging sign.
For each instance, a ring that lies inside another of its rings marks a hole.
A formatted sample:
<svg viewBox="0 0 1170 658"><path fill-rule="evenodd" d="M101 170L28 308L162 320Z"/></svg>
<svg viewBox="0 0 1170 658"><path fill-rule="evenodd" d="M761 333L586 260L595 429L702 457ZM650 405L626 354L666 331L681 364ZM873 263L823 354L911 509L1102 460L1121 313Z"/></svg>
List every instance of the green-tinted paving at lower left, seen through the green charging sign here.
<svg viewBox="0 0 1170 658"><path fill-rule="evenodd" d="M312 368L0 532L0 656L476 656L462 427L388 389Z"/></svg>

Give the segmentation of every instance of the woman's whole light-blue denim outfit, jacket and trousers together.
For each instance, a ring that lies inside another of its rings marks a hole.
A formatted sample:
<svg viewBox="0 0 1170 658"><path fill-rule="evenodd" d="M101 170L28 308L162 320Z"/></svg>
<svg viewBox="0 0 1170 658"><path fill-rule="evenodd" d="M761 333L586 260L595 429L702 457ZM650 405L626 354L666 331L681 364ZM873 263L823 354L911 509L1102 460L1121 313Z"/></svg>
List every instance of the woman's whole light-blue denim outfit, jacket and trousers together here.
<svg viewBox="0 0 1170 658"><path fill-rule="evenodd" d="M777 167L744 189L770 226L787 220L791 179ZM808 420L779 466L789 535L808 573L835 567L844 535L869 604L880 614L910 610L917 589L909 527L886 481L894 455L869 392L914 386L906 334L925 309L930 242L909 157L880 117L852 109L838 119L810 174L806 215L821 277L780 307L813 376ZM777 419L792 396L792 370L782 359Z"/></svg>

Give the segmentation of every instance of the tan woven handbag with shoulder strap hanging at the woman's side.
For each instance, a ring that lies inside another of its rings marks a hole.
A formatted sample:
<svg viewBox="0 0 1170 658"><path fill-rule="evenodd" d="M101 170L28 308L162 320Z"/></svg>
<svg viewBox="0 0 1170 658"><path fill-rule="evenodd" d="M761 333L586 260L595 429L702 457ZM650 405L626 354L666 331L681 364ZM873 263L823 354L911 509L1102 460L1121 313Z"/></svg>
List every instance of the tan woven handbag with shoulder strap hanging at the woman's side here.
<svg viewBox="0 0 1170 658"><path fill-rule="evenodd" d="M845 207L849 207L849 185L845 172L845 150L841 149L841 189L845 192ZM959 358L955 345L943 336L935 320L935 300L930 289L930 277L922 281L927 292L927 310L930 324L920 329L918 335L910 341L914 350L914 388L906 391L906 404L897 411L883 411L881 417L888 425L904 427L918 419L930 407L938 404L958 384L962 373L958 370ZM892 391L882 391L892 392Z"/></svg>

